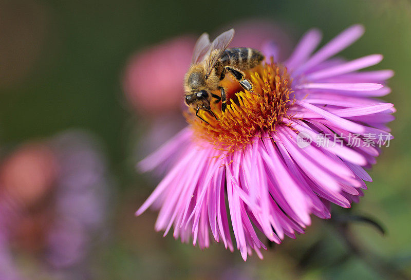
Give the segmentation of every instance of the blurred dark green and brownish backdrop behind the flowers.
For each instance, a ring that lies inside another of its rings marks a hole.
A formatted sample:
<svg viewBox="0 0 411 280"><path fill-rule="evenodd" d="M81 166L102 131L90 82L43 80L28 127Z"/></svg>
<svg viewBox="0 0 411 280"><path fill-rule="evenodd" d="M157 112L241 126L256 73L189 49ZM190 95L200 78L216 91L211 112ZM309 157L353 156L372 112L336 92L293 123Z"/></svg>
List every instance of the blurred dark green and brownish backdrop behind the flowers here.
<svg viewBox="0 0 411 280"><path fill-rule="evenodd" d="M244 263L220 244L201 252L172 236L163 238L154 231L154 212L134 216L154 183L134 168L133 148L147 122L122 91L127 59L173 36L213 32L250 18L287 26L295 41L311 27L323 30L326 42L361 23L365 35L342 55L382 53L376 69L395 70L389 81L393 92L384 98L398 110L390 124L395 139L370 172L374 182L365 197L351 209L374 217L387 233L362 223L349 226L371 263L381 258L388 266L382 272L350 252L332 221L314 218L305 235L264 252L264 260L253 256ZM0 40L2 150L71 127L103 141L118 189L110 237L95 252L97 278L216 279L228 268L256 279L388 279L384 273L390 269L411 275L411 2L2 0Z"/></svg>

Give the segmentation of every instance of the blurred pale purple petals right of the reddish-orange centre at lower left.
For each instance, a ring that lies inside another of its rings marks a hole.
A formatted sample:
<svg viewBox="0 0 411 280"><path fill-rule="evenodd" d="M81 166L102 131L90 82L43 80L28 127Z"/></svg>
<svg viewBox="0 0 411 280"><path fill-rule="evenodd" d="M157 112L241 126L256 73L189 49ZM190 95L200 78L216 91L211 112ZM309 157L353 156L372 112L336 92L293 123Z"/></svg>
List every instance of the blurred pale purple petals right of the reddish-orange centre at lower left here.
<svg viewBox="0 0 411 280"><path fill-rule="evenodd" d="M80 264L93 234L107 214L109 179L97 141L83 132L66 132L51 141L60 162L55 189L56 220L47 237L47 259L54 267Z"/></svg>

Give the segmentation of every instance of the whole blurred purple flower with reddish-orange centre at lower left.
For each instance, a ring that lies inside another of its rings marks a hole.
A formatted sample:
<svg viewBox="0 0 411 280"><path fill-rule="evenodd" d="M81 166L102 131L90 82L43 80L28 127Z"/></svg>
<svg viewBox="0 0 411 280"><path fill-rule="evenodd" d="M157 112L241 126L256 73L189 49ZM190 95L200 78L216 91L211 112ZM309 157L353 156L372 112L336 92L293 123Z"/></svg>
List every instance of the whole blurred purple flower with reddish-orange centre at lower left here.
<svg viewBox="0 0 411 280"><path fill-rule="evenodd" d="M44 178L35 183L22 179L42 170L54 170L55 176L51 180L47 172L40 172L36 177ZM24 279L18 276L21 268L14 264L11 242L22 251L34 244L50 275L71 279L73 273L87 270L95 237L104 236L110 184L97 141L73 131L41 144L23 145L4 161L0 178L4 190L0 195L0 262L9 264L7 270L0 269L0 279L11 277L7 275L15 277L10 280ZM7 192L15 186L22 191Z"/></svg>

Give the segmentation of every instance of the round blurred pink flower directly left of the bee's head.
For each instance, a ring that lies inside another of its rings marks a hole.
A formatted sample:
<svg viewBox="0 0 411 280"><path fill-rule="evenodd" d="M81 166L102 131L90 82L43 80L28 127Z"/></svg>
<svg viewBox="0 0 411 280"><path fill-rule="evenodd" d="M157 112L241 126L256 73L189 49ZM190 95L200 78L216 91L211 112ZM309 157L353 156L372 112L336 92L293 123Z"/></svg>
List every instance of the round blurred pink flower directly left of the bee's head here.
<svg viewBox="0 0 411 280"><path fill-rule="evenodd" d="M194 42L191 36L180 36L129 59L123 87L138 111L160 115L180 108L183 78L190 66Z"/></svg>

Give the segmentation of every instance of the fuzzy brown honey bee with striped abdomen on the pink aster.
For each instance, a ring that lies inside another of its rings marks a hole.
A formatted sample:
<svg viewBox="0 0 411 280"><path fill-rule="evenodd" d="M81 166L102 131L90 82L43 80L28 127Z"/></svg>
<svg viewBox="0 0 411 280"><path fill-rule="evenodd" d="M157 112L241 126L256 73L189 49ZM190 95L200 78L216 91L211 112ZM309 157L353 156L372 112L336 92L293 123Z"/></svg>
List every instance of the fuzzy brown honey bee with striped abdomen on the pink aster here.
<svg viewBox="0 0 411 280"><path fill-rule="evenodd" d="M212 98L215 99L214 103L221 101L221 111L227 108L226 91L220 83L226 73L242 88L251 91L253 86L243 71L254 68L264 60L264 55L252 48L227 48L233 36L234 29L230 29L211 43L209 34L203 33L195 44L191 66L185 74L185 104L196 110L196 116L206 123L198 115L199 110L207 111L218 120L211 110ZM220 96L213 91L220 91Z"/></svg>

